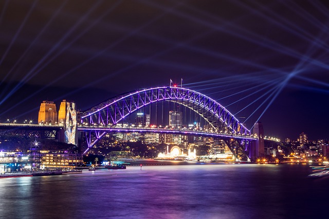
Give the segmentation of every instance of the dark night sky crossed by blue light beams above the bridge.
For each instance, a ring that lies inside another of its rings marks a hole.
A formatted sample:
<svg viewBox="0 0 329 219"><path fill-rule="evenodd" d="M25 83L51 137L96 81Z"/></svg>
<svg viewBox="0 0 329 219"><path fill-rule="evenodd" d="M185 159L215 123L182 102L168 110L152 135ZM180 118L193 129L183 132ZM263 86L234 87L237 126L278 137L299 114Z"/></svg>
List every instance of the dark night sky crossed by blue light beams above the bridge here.
<svg viewBox="0 0 329 219"><path fill-rule="evenodd" d="M329 138L327 1L0 0L0 122L170 79L251 128Z"/></svg>

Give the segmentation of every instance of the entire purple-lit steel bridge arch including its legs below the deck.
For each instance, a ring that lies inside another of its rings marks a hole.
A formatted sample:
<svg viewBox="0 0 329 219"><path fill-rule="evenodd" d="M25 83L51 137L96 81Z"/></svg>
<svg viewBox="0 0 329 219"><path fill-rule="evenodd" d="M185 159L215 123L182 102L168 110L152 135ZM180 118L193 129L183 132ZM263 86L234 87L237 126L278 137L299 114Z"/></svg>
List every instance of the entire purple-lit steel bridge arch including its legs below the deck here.
<svg viewBox="0 0 329 219"><path fill-rule="evenodd" d="M250 149L250 141L254 140L253 136L250 135L250 131L240 123L233 114L225 109L225 107L214 101L212 98L187 88L178 87L157 87L125 93L108 99L107 101L82 112L80 114L80 131L86 133L88 145L84 154L87 153L89 149L105 135L105 133L114 131L112 127L123 122L127 116L153 103L163 101L178 103L202 116L212 127L211 131L210 128L207 130L209 134L211 136L223 137L223 140L236 157L236 160L250 161L247 150ZM87 128L84 128L84 126L87 126ZM92 128L90 128L90 126L92 126ZM122 128L116 131L132 130L124 130ZM161 132L161 130L137 131ZM225 133L222 134L223 131L225 131ZM87 132L89 134L87 134ZM92 141L92 132L94 132L94 141ZM175 133L184 134L182 131L177 131ZM204 135L205 132L203 131L201 134ZM249 147L249 149L247 149L247 147Z"/></svg>

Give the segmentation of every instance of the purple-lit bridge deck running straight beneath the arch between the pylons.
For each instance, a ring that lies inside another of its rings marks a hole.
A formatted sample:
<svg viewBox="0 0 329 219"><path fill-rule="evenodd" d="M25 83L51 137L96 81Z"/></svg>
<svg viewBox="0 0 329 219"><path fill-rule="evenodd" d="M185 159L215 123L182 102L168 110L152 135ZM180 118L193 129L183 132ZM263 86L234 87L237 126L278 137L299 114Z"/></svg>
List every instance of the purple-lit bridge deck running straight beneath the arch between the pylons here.
<svg viewBox="0 0 329 219"><path fill-rule="evenodd" d="M207 137L221 137L221 138L235 138L249 141L256 141L257 138L253 135L235 135L229 133L216 133L191 129L168 129L168 128L153 128L153 127L105 127L105 126L78 126L79 131L105 131L105 132L141 132L141 133L167 133L167 134L181 134L181 135L199 135Z"/></svg>

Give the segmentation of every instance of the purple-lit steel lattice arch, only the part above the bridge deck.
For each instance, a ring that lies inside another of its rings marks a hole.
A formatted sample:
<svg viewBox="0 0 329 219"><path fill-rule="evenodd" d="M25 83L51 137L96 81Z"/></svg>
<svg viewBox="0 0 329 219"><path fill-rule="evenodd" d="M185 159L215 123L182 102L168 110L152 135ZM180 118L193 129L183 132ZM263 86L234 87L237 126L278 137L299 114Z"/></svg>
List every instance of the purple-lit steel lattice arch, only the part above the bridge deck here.
<svg viewBox="0 0 329 219"><path fill-rule="evenodd" d="M138 109L160 101L176 102L194 110L218 131L220 130L218 126L224 124L234 135L250 135L250 131L225 107L202 93L178 87L137 90L108 99L108 101L83 112L81 123L104 127L110 124L115 125Z"/></svg>

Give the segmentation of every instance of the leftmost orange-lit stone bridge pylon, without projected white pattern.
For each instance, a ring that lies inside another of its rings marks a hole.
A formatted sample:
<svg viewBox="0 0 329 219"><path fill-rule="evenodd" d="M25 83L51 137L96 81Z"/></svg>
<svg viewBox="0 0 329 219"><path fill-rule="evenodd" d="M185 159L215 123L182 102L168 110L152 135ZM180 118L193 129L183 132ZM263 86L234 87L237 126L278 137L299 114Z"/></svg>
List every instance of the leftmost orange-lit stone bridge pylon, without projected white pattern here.
<svg viewBox="0 0 329 219"><path fill-rule="evenodd" d="M56 104L51 101L43 101L40 105L38 124L55 125L57 123Z"/></svg>

